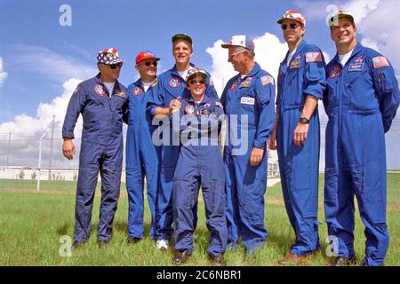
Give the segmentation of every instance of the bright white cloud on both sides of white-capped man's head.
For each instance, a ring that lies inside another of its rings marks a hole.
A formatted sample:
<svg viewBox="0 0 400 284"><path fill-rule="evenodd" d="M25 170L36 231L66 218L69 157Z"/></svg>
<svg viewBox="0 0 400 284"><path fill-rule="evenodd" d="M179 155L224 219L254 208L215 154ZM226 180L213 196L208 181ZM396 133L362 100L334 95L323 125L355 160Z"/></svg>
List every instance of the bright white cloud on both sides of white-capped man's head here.
<svg viewBox="0 0 400 284"><path fill-rule="evenodd" d="M218 40L205 50L212 56L212 80L219 95L228 80L237 74L232 64L228 62L228 50L223 49L221 43L223 41ZM287 51L286 43L280 43L277 36L267 32L263 36L254 38L254 44L255 60L276 79L279 64Z"/></svg>

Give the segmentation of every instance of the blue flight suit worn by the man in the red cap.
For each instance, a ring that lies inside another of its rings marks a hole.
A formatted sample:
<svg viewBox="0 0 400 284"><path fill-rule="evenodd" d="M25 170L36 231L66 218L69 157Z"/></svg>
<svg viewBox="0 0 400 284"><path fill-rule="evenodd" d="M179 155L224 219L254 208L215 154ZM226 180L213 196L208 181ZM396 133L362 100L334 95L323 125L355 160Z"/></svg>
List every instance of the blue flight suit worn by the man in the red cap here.
<svg viewBox="0 0 400 284"><path fill-rule="evenodd" d="M139 79L128 86L128 132L126 136L126 189L129 199L128 236L142 239L144 231L143 185L146 174L148 207L151 212L150 238L156 239L156 197L159 147L152 141L156 126L147 113L148 101L158 91L158 79L144 91Z"/></svg>

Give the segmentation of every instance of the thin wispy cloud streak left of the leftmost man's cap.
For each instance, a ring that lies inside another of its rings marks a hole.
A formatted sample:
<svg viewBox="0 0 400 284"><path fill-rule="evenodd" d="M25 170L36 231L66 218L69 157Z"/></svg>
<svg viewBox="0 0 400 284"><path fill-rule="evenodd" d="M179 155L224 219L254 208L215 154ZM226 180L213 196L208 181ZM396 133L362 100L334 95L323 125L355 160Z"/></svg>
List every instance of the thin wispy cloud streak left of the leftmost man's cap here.
<svg viewBox="0 0 400 284"><path fill-rule="evenodd" d="M95 67L88 67L78 59L41 46L19 45L15 54L18 65L58 83L69 78L84 80L97 72Z"/></svg>

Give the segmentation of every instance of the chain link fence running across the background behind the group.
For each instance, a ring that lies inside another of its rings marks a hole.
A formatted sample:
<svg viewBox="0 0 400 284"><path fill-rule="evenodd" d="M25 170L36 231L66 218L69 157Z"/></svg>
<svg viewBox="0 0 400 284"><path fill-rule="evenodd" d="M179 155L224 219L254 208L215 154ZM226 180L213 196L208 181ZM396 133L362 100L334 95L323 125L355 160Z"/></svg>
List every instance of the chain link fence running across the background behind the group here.
<svg viewBox="0 0 400 284"><path fill-rule="evenodd" d="M319 200L324 201L324 128L321 122ZM126 130L124 130L126 133ZM60 130L46 132L0 132L0 190L76 190L80 131L76 130L76 156L68 161L61 153ZM400 121L386 134L388 164L388 206L400 209ZM39 178L40 177L40 178ZM121 193L125 193L124 171ZM99 183L100 185L100 183ZM146 195L145 195L146 196ZM276 151L268 150L267 202L283 203Z"/></svg>

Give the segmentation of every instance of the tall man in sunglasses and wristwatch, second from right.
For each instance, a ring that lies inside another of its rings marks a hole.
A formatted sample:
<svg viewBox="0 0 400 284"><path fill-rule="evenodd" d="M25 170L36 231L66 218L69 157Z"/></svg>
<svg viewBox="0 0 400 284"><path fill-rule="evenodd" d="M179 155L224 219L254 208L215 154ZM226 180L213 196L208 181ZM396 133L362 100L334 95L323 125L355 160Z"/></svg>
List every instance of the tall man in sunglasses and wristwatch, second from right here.
<svg viewBox="0 0 400 284"><path fill-rule="evenodd" d="M269 148L279 157L284 205L296 235L290 253L278 264L300 264L320 247L318 235L318 99L326 86L321 50L308 44L306 19L287 11L280 24L289 51L277 79L276 122Z"/></svg>

